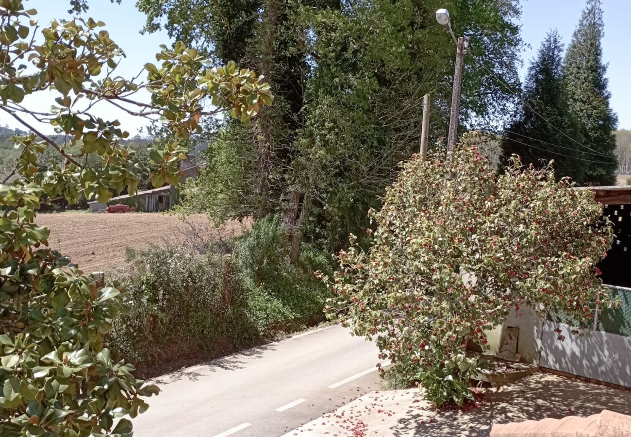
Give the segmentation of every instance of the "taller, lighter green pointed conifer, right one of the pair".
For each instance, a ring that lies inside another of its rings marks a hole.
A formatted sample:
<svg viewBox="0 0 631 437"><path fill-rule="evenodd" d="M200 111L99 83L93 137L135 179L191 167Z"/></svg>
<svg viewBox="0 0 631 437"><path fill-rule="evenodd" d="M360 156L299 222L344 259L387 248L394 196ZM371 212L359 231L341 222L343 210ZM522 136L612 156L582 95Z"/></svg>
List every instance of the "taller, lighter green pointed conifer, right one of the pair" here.
<svg viewBox="0 0 631 437"><path fill-rule="evenodd" d="M613 185L617 162L613 131L618 117L611 110L603 64L604 35L601 0L587 0L565 54L564 78L570 111L581 123L584 156L592 162L586 168L584 184Z"/></svg>

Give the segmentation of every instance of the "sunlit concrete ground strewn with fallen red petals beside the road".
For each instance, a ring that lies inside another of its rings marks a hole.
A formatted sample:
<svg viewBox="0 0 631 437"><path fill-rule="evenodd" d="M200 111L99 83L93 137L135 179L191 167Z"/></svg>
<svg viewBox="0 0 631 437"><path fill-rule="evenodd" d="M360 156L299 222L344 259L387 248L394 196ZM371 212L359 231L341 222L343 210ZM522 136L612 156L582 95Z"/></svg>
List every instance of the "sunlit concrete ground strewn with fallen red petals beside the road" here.
<svg viewBox="0 0 631 437"><path fill-rule="evenodd" d="M488 436L496 423L586 417L604 409L631 414L631 392L546 373L483 391L487 400L479 409L441 413L418 390L372 392L285 436Z"/></svg>

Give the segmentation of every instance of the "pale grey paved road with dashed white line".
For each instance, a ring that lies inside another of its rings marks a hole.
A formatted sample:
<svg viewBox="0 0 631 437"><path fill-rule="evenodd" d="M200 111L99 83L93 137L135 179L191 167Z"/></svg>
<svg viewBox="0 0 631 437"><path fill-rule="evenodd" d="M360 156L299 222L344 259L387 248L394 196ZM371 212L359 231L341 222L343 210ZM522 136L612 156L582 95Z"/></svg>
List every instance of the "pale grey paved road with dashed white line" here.
<svg viewBox="0 0 631 437"><path fill-rule="evenodd" d="M339 325L157 378L134 437L274 437L379 386L377 347Z"/></svg>

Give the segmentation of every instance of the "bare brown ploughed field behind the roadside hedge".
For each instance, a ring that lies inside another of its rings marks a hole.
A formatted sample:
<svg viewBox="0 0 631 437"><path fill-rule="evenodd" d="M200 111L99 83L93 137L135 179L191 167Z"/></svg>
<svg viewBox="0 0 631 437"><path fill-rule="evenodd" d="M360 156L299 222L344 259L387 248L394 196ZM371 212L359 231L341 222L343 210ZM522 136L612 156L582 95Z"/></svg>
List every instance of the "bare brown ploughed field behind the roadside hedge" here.
<svg viewBox="0 0 631 437"><path fill-rule="evenodd" d="M49 246L70 256L85 273L107 270L125 260L125 249L145 248L168 237L182 239L191 226L203 238L240 234L239 222L215 229L204 215L186 222L162 213L64 212L40 214L37 224L50 229ZM190 232L189 232L190 236Z"/></svg>

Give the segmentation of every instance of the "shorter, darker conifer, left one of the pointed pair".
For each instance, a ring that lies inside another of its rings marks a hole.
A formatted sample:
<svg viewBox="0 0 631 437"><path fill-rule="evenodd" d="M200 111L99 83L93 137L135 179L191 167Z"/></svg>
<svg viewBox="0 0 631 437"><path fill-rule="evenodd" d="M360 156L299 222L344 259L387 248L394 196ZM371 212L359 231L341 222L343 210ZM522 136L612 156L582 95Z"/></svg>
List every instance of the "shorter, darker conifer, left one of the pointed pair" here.
<svg viewBox="0 0 631 437"><path fill-rule="evenodd" d="M504 159L517 153L522 162L536 167L554 160L557 178L569 176L581 183L588 165L581 141L581 126L569 110L563 44L555 30L546 35L528 68L519 119L506 129Z"/></svg>

